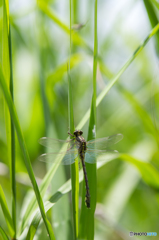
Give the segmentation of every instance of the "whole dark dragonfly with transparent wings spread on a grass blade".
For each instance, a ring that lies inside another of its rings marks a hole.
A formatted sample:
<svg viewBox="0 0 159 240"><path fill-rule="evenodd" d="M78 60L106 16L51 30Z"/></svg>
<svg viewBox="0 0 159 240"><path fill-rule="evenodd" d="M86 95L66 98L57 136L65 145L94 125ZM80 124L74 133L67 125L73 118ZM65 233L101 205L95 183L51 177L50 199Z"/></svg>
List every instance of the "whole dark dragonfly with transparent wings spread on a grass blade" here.
<svg viewBox="0 0 159 240"><path fill-rule="evenodd" d="M87 208L90 208L90 190L85 162L93 164L97 161L106 160L108 154L117 153L118 151L116 150L110 150L110 147L122 140L123 135L119 133L105 138L92 139L87 142L82 136L82 130L75 130L73 134L70 132L68 132L68 134L72 137L68 140L59 140L48 137L40 138L39 143L41 145L54 149L55 151L42 154L39 157L39 160L44 162L51 161L52 163L70 165L73 164L79 156L79 159L82 163L86 185L85 203ZM67 145L66 151L60 151L63 144ZM64 157L62 161L57 162L56 155L59 156L60 154L63 154ZM98 160L97 157L99 157Z"/></svg>

